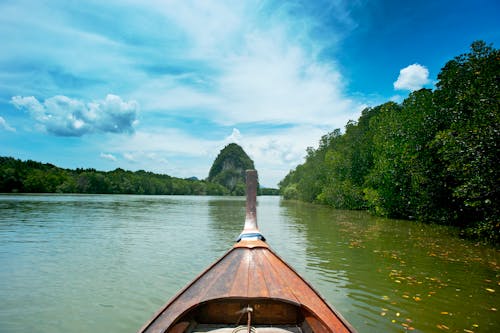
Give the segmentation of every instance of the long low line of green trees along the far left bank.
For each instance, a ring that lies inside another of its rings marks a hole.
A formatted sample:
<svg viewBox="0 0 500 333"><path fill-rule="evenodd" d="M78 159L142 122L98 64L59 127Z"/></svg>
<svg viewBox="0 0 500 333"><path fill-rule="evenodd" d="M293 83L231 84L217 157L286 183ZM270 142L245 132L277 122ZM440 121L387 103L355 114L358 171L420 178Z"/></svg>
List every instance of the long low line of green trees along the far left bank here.
<svg viewBox="0 0 500 333"><path fill-rule="evenodd" d="M146 171L62 169L52 164L0 157L0 193L109 193L228 195L220 184Z"/></svg>

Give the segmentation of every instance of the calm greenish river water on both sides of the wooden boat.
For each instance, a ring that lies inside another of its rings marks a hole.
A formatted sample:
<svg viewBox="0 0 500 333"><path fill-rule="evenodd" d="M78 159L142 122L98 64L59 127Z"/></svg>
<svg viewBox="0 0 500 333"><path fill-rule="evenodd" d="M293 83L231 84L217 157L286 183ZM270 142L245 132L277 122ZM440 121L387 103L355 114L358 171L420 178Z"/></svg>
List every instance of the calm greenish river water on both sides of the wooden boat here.
<svg viewBox="0 0 500 333"><path fill-rule="evenodd" d="M135 332L239 235L244 198L0 195L0 332ZM359 332L498 332L500 251L258 197L271 247Z"/></svg>

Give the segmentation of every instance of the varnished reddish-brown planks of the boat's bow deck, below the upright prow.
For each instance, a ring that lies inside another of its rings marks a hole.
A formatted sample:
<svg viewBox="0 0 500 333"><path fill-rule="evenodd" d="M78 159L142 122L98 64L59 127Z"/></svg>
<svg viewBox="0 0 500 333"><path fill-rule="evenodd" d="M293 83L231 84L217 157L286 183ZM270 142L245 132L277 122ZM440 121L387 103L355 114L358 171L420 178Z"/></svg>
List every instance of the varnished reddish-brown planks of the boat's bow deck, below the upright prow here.
<svg viewBox="0 0 500 333"><path fill-rule="evenodd" d="M221 302L224 299L281 300L284 304L295 304L314 314L314 318L308 315L313 318L310 319L310 326L317 327L319 331L323 331L321 327L329 327L325 332L351 332L321 296L265 243L259 246L253 244L251 247L235 245L174 297L144 332L163 332L187 310L199 304L217 301L214 304L220 310L224 307ZM229 306L229 303L227 311L234 311L234 304ZM227 317L234 319L234 315ZM279 318L276 314L278 322Z"/></svg>

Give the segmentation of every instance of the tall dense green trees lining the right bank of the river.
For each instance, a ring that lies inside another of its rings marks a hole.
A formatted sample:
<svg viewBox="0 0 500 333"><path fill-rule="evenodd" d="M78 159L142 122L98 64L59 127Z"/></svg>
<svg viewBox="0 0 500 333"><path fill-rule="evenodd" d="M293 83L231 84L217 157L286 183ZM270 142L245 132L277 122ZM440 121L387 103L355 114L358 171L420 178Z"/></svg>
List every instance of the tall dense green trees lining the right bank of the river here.
<svg viewBox="0 0 500 333"><path fill-rule="evenodd" d="M365 109L308 148L285 198L455 225L500 242L500 52L474 42L434 91Z"/></svg>

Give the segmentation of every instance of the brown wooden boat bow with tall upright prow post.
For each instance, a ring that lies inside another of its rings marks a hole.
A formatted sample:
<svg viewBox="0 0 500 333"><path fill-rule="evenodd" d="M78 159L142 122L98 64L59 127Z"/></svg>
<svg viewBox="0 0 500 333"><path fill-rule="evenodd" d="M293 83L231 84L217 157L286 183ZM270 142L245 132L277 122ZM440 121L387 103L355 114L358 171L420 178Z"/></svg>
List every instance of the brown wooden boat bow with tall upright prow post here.
<svg viewBox="0 0 500 333"><path fill-rule="evenodd" d="M140 333L336 333L356 330L267 244L257 225L257 172L246 171L243 231Z"/></svg>

